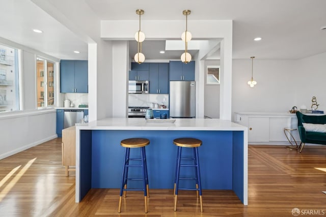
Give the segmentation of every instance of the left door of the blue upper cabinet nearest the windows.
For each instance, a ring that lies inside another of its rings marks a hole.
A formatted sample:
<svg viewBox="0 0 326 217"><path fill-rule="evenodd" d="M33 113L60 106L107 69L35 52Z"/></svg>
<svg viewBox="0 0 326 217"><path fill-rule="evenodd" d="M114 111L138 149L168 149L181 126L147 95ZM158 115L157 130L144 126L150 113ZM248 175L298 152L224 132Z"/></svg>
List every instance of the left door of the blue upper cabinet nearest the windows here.
<svg viewBox="0 0 326 217"><path fill-rule="evenodd" d="M73 93L75 88L75 62L60 62L60 92Z"/></svg>

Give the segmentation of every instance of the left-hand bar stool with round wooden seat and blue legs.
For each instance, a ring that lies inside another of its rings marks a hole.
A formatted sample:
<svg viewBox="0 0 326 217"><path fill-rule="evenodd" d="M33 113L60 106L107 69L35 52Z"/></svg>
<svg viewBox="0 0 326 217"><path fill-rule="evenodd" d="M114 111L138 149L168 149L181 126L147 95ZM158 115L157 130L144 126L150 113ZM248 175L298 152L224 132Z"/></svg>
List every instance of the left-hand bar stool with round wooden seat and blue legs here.
<svg viewBox="0 0 326 217"><path fill-rule="evenodd" d="M131 138L122 140L120 145L125 147L124 160L123 160L123 171L122 180L120 188L120 200L118 212L121 212L122 194L126 197L127 191L144 191L145 196L145 213L147 213L147 195L149 197L149 187L148 187L148 175L147 175L147 164L146 164L146 152L145 146L149 145L149 140L144 138ZM141 158L130 158L130 148L141 148ZM129 165L131 160L140 160L140 165ZM141 167L142 168L142 178L128 178L128 168L129 167ZM141 189L127 189L128 180L143 180L143 188Z"/></svg>

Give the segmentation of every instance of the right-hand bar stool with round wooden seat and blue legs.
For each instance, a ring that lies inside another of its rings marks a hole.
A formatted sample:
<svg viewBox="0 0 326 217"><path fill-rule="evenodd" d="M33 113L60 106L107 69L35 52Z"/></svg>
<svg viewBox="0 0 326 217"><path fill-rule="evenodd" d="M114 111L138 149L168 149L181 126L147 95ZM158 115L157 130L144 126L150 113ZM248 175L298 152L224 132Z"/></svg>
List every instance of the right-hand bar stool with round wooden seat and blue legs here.
<svg viewBox="0 0 326 217"><path fill-rule="evenodd" d="M176 162L176 171L174 178L174 211L177 211L177 199L178 199L178 190L192 190L197 191L197 198L200 198L200 211L203 212L203 202L202 202L202 186L200 180L200 167L199 167L199 156L198 156L198 147L202 145L202 141L194 138L179 138L173 140L173 143L178 146L177 150L177 162ZM193 157L181 157L182 148L193 148ZM181 160L193 160L194 164L181 164ZM180 176L180 167L194 167L195 168L195 178L185 178ZM196 188L180 188L179 180L196 180ZM199 192L199 194L198 194Z"/></svg>

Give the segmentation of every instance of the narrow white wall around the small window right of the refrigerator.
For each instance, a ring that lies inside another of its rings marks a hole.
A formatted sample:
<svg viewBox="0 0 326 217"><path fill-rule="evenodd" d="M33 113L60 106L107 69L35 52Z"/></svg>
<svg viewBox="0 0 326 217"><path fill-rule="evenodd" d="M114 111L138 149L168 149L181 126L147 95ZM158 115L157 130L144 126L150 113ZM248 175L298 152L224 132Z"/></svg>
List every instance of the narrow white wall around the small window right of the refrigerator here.
<svg viewBox="0 0 326 217"><path fill-rule="evenodd" d="M205 112L210 118L220 118L220 85L206 85L207 66L220 66L220 60L205 61Z"/></svg>

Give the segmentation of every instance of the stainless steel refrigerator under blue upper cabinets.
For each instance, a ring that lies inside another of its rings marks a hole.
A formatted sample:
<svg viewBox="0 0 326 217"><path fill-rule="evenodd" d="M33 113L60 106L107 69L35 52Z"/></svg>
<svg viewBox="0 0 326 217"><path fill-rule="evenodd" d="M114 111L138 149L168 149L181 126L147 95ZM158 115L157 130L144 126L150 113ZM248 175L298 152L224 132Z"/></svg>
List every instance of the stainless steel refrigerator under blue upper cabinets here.
<svg viewBox="0 0 326 217"><path fill-rule="evenodd" d="M196 83L194 81L170 82L170 117L196 117Z"/></svg>

